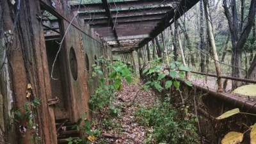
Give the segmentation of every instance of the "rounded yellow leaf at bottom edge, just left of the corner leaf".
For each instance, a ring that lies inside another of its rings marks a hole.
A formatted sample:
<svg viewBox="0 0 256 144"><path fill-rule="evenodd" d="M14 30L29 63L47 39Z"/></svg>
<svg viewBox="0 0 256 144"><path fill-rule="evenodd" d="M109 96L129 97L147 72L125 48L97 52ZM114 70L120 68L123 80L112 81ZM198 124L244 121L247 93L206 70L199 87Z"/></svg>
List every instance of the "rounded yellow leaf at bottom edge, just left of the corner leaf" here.
<svg viewBox="0 0 256 144"><path fill-rule="evenodd" d="M231 131L221 140L221 144L237 144L243 141L243 133Z"/></svg>

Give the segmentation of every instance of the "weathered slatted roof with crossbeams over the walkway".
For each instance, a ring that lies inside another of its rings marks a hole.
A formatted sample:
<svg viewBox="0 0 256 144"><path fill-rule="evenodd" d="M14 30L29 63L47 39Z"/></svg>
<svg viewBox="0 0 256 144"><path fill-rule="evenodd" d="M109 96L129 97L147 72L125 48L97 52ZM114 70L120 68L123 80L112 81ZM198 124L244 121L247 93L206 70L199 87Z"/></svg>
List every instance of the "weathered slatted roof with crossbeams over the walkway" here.
<svg viewBox="0 0 256 144"><path fill-rule="evenodd" d="M143 47L179 19L199 0L132 0L82 4L79 19L90 25L113 51L133 51ZM79 4L70 5L77 11Z"/></svg>

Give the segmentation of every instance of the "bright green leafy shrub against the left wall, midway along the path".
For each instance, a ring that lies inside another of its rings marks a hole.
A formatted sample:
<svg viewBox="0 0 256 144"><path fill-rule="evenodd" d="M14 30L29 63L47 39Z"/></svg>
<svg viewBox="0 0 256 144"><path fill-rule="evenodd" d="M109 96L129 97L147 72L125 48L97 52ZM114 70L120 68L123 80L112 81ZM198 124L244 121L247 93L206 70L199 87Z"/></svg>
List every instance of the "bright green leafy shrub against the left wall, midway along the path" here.
<svg viewBox="0 0 256 144"><path fill-rule="evenodd" d="M122 81L125 79L128 83L131 83L132 79L131 70L121 61L109 63L103 58L99 58L97 61L102 65L93 65L93 77L99 79L99 86L90 98L90 108L93 110L100 110L109 106L115 91L122 89ZM103 67L109 71L107 77L102 72ZM113 113L115 112L114 109Z"/></svg>

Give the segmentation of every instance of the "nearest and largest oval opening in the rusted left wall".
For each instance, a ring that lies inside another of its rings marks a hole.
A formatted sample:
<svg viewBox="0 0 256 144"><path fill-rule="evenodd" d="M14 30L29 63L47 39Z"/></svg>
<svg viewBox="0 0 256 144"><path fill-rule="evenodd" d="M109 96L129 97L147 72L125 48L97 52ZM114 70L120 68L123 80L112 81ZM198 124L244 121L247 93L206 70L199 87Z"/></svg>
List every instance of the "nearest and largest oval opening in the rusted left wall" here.
<svg viewBox="0 0 256 144"><path fill-rule="evenodd" d="M70 70L72 77L76 80L77 79L77 60L76 60L76 52L74 48L71 47L69 51L69 63L70 63Z"/></svg>

